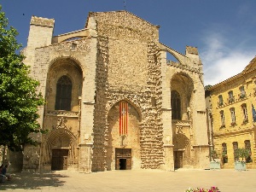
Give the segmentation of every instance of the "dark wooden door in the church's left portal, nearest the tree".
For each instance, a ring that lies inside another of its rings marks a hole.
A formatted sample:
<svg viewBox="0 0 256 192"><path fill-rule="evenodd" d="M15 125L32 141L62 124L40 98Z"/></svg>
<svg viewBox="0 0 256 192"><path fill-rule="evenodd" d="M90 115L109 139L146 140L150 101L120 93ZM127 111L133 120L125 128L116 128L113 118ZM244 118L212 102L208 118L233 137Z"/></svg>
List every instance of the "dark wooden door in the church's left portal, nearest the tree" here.
<svg viewBox="0 0 256 192"><path fill-rule="evenodd" d="M53 149L51 170L67 170L68 149Z"/></svg>

